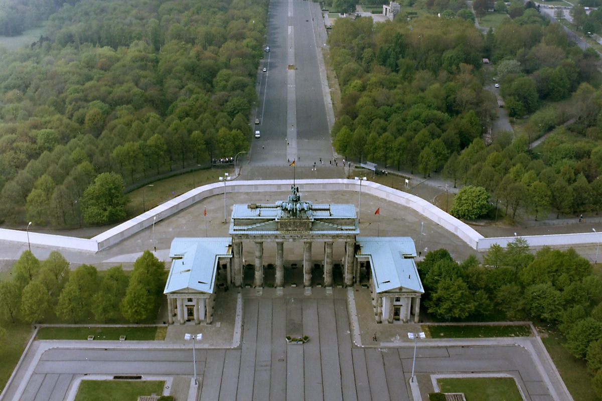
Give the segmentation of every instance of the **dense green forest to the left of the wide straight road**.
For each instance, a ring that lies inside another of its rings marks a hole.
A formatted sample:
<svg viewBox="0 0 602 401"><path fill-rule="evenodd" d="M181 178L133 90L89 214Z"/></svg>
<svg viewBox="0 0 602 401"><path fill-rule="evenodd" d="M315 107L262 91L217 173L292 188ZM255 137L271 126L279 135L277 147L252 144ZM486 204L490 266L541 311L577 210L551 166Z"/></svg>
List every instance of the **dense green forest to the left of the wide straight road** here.
<svg viewBox="0 0 602 401"><path fill-rule="evenodd" d="M123 191L246 150L267 4L64 4L0 60L0 219L116 221L82 210L98 209L84 192L101 174Z"/></svg>

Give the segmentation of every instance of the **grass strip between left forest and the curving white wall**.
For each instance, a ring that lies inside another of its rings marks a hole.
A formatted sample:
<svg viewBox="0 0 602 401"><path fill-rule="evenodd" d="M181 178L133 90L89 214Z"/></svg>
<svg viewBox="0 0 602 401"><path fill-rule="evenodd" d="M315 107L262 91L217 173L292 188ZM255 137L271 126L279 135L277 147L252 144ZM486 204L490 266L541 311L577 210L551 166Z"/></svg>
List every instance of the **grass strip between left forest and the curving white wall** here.
<svg viewBox="0 0 602 401"><path fill-rule="evenodd" d="M238 163L246 162L244 153L238 156ZM219 182L219 177L224 173L232 176L234 166L224 165L223 168L214 167L204 170L196 170L191 173L179 174L163 180L155 181L149 185L129 192L129 203L125 207L128 219L141 215L145 210L173 199L198 186Z"/></svg>

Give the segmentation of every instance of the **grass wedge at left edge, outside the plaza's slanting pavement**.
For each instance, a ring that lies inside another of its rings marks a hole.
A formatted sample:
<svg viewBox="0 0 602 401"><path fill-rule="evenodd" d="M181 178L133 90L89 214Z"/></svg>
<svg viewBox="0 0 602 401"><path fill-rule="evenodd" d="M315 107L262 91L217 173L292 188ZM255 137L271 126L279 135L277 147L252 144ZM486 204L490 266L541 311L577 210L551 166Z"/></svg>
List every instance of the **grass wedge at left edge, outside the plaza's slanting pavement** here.
<svg viewBox="0 0 602 401"><path fill-rule="evenodd" d="M0 361L2 361L0 363L0 391L2 391L29 341L31 325L2 320L0 326L7 331L5 341L0 342Z"/></svg>

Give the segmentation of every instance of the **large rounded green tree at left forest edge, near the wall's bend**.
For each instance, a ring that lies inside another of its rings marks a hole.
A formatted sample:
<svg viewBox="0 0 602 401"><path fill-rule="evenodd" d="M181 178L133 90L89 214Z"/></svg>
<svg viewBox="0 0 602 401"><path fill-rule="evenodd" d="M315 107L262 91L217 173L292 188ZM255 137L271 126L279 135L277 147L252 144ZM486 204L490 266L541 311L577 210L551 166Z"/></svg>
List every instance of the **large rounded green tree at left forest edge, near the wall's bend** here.
<svg viewBox="0 0 602 401"><path fill-rule="evenodd" d="M84 220L92 224L107 224L125 218L128 197L123 194L124 190L119 174L100 174L82 195Z"/></svg>

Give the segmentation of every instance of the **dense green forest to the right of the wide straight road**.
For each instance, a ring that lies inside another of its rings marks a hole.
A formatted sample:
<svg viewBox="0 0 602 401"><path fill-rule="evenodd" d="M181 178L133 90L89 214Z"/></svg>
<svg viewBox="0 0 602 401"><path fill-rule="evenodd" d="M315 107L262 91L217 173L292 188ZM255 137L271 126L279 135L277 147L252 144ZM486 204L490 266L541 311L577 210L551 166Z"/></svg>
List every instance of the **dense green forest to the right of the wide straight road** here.
<svg viewBox="0 0 602 401"><path fill-rule="evenodd" d="M520 12L516 6L485 35L460 17L337 21L329 36L342 96L332 130L337 152L484 188L511 220L597 213L598 54L582 51L529 3ZM435 3L432 10L445 7ZM491 144L493 79L514 133L498 132Z"/></svg>

